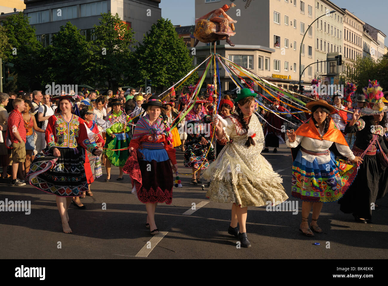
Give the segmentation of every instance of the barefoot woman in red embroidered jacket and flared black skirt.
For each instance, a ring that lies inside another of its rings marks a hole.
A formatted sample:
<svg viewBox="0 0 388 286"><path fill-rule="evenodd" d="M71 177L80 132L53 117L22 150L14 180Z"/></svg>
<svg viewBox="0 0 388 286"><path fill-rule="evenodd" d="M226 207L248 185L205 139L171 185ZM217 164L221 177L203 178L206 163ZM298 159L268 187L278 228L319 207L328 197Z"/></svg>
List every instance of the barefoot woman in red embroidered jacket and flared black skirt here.
<svg viewBox="0 0 388 286"><path fill-rule="evenodd" d="M96 156L102 151L88 138L85 121L74 114L78 109L73 98L59 98L59 112L49 118L46 128L47 147L35 156L27 177L35 188L56 195L63 232L71 233L67 212L71 199L88 190L85 149Z"/></svg>

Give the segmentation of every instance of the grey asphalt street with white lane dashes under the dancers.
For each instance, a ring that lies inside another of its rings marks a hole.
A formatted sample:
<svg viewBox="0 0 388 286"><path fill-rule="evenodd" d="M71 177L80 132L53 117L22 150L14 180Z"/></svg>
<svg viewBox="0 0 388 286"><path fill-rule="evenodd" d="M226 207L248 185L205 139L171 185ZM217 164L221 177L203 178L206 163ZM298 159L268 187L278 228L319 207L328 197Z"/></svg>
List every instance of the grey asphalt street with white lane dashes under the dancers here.
<svg viewBox="0 0 388 286"><path fill-rule="evenodd" d="M290 149L281 145L277 153L263 153L291 196L292 159ZM179 171L184 154L177 149ZM254 158L253 158L254 160ZM387 257L388 197L378 200L372 224L355 222L337 203L324 204L318 224L323 233L306 237L299 231L301 201L289 198L294 211L266 211L248 207L247 234L252 247L238 248L237 238L227 233L231 203L209 202L201 185L190 184L191 176L179 175L183 188L174 188L171 205L159 204L156 224L159 234L145 228L147 212L131 194L128 175L116 181L118 167L112 168L111 182L103 176L92 184L94 196L81 202L86 210L69 207L72 234L62 232L55 197L27 184L0 185L0 200L31 201L30 214L0 212L2 258L341 258ZM174 176L175 178L175 176ZM194 209L195 203L195 209ZM296 205L298 203L298 205ZM106 208L106 209L104 209ZM275 210L272 209L271 210ZM298 214L295 213L298 210ZM311 221L311 217L310 217ZM314 243L320 243L315 245Z"/></svg>

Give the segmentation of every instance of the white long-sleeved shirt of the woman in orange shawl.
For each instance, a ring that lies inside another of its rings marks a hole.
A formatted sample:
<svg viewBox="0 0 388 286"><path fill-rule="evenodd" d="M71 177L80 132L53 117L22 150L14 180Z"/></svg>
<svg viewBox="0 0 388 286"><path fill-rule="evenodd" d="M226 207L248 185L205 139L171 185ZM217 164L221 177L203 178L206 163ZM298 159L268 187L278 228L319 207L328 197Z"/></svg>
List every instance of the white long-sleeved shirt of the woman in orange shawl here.
<svg viewBox="0 0 388 286"><path fill-rule="evenodd" d="M318 129L320 136L323 136L323 134ZM328 141L328 140L319 140L319 139L313 139L310 137L304 137L300 135L296 135L296 139L294 142L290 142L289 139L286 141L286 145L291 148L295 148L296 146L300 145L309 151L314 152L320 152L329 149L331 145L333 145L334 142ZM349 146L342 145L340 143L335 143L338 152L341 153L341 155L345 156L346 158L350 160L354 160L355 156L353 155L352 150L350 150ZM330 161L330 154L328 155L311 155L307 154L306 152L302 152L302 158L306 159L308 162L313 162L314 159L317 159L318 164L324 164Z"/></svg>

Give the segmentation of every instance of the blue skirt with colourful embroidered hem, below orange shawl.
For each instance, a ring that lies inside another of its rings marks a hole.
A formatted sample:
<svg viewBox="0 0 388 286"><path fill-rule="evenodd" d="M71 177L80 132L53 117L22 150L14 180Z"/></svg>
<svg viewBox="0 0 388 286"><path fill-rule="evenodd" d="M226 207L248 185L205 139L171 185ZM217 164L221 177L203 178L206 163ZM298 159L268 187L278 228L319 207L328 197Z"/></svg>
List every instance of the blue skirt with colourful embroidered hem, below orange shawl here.
<svg viewBox="0 0 388 286"><path fill-rule="evenodd" d="M304 151L316 156L328 152ZM332 152L329 162L319 164L316 158L312 162L303 159L302 151L299 150L292 169L291 195L307 202L336 202L357 175L357 166L346 164L343 160L336 161Z"/></svg>

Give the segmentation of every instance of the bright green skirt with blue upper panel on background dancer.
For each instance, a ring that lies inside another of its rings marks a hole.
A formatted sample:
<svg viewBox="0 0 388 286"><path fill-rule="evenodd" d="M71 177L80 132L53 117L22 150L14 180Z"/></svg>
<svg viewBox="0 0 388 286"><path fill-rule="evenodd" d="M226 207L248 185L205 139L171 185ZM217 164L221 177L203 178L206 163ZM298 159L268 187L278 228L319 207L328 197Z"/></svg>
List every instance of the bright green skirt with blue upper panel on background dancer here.
<svg viewBox="0 0 388 286"><path fill-rule="evenodd" d="M127 133L114 133L115 138L112 138L108 134L106 135L105 152L112 165L123 167L126 159L128 159L129 152L129 136ZM123 149L124 150L119 150Z"/></svg>

